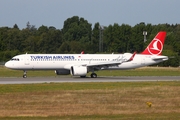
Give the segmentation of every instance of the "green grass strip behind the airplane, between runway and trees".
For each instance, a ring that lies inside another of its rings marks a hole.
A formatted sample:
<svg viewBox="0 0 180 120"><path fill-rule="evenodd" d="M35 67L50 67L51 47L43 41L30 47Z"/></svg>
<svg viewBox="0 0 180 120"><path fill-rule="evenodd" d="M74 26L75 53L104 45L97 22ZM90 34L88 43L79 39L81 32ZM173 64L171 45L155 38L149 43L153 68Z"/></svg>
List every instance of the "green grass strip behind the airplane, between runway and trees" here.
<svg viewBox="0 0 180 120"><path fill-rule="evenodd" d="M173 67L143 67L132 70L97 71L98 76L180 76L180 68ZM22 77L23 71L10 70L0 66L0 77ZM28 77L57 76L53 70L28 71ZM90 73L88 74L90 76Z"/></svg>

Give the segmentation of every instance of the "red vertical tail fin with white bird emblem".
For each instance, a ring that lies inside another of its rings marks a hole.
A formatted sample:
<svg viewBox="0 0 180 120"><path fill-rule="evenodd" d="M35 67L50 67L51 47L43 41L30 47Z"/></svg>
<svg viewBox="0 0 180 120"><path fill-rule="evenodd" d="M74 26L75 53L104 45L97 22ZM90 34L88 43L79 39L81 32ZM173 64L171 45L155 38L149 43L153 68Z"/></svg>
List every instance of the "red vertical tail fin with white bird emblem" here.
<svg viewBox="0 0 180 120"><path fill-rule="evenodd" d="M161 55L166 32L160 31L141 54Z"/></svg>

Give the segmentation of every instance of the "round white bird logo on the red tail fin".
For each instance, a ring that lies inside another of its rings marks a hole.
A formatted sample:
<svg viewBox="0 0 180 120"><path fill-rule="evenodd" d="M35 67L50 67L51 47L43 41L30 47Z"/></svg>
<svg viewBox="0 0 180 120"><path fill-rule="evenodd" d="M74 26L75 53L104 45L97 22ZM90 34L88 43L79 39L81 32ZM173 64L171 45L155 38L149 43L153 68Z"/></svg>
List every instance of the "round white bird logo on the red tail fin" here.
<svg viewBox="0 0 180 120"><path fill-rule="evenodd" d="M152 55L159 55L161 54L163 49L163 44L159 39L153 39L152 44L149 45L148 51Z"/></svg>

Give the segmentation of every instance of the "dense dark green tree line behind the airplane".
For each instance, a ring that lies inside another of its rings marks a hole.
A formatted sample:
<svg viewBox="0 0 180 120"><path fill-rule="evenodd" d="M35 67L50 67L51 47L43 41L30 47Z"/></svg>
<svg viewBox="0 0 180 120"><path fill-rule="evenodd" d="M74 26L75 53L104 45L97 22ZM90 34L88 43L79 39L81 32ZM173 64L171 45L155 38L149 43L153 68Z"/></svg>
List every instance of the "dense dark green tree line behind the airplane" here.
<svg viewBox="0 0 180 120"><path fill-rule="evenodd" d="M147 31L144 42L143 31ZM159 31L166 31L163 55L170 60L160 66L179 66L180 24L145 24L135 26L114 23L92 26L84 18L73 16L64 21L62 29L53 26L36 28L29 22L20 30L15 24L12 28L0 27L0 61L7 61L22 53L125 53L142 52ZM101 40L101 41L100 41ZM99 46L100 44L100 46Z"/></svg>

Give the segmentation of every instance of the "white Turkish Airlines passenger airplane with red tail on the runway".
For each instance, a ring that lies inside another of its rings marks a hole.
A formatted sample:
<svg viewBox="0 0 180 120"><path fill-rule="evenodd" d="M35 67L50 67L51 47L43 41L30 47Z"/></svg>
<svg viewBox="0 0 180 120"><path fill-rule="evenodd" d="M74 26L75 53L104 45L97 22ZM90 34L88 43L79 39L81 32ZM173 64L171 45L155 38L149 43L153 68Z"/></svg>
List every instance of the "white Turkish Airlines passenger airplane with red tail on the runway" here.
<svg viewBox="0 0 180 120"><path fill-rule="evenodd" d="M165 37L166 32L160 31L141 54L21 54L7 61L5 66L23 70L23 78L27 77L27 70L55 70L57 75L80 77L92 72L91 78L96 78L94 71L134 69L168 60L161 55Z"/></svg>

